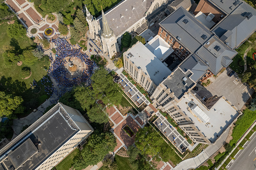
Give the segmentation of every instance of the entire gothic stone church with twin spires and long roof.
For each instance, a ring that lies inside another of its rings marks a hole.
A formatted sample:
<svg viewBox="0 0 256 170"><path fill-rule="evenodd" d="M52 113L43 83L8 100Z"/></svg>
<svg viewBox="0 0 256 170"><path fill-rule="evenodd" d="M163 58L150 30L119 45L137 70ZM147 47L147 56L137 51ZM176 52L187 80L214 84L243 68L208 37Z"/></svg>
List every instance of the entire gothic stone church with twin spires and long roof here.
<svg viewBox="0 0 256 170"><path fill-rule="evenodd" d="M111 58L119 52L125 32L136 32L138 35L148 28L146 17L168 0L124 0L106 14L93 18L86 8L86 20L89 33L100 41L103 51Z"/></svg>

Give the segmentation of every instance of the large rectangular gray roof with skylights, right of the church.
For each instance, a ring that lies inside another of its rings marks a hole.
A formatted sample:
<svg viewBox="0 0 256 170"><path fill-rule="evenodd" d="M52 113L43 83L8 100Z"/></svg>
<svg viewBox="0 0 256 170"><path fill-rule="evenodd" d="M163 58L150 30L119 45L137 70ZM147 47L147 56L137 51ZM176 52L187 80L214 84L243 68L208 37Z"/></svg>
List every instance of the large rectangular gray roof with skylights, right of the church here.
<svg viewBox="0 0 256 170"><path fill-rule="evenodd" d="M183 23L184 19L188 19L187 24ZM172 12L159 25L164 27L176 39L180 37L181 40L179 42L191 52L196 52L213 35L209 29L181 7ZM202 39L202 35L206 35L207 39Z"/></svg>

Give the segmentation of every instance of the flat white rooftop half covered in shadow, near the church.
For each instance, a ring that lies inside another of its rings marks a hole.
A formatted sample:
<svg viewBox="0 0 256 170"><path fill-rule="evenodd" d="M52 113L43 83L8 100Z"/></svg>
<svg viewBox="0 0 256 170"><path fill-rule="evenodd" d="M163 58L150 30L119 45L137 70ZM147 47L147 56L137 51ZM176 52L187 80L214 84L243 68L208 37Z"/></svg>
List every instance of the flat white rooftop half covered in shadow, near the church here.
<svg viewBox="0 0 256 170"><path fill-rule="evenodd" d="M127 50L125 56L138 68L141 68L156 85L159 85L172 73L172 71L141 42L135 44L130 50Z"/></svg>

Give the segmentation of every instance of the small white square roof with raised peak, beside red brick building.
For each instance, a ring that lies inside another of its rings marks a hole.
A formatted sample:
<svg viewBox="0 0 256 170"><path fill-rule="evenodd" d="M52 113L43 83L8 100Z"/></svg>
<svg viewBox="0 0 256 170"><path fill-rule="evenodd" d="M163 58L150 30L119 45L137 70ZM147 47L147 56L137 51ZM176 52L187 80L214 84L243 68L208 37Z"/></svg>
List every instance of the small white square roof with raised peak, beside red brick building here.
<svg viewBox="0 0 256 170"><path fill-rule="evenodd" d="M174 51L159 35L156 35L145 45L161 62Z"/></svg>

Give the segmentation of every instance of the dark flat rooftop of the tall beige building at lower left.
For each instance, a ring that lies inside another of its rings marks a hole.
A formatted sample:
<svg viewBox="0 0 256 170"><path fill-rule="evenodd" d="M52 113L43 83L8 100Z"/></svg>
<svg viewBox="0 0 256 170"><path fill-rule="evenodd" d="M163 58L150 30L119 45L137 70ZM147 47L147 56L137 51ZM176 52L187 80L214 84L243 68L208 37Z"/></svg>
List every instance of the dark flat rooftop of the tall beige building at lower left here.
<svg viewBox="0 0 256 170"><path fill-rule="evenodd" d="M71 115L72 113L73 115ZM53 152L74 136L79 129L84 128L77 126L77 124L80 126L79 123L86 121L85 119L79 120L77 114L79 113L76 109L61 103L55 105L13 139L11 143L7 144L0 151L0 160L5 162L10 160L8 169L12 166L17 170L36 169ZM86 124L90 127L88 122ZM9 158L8 160L6 156Z"/></svg>

